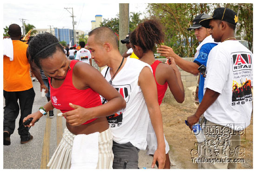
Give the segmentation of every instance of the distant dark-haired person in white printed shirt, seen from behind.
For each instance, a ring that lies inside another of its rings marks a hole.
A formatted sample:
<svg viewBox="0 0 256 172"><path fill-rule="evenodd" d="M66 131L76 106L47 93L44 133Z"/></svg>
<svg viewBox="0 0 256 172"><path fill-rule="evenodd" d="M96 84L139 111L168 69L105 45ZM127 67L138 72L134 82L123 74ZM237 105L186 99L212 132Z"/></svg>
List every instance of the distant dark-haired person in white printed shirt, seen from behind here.
<svg viewBox="0 0 256 172"><path fill-rule="evenodd" d="M81 41L79 42L79 45L81 46L81 49L76 53L75 60L88 63L89 65L92 66L91 53L88 49L85 48L85 42Z"/></svg>

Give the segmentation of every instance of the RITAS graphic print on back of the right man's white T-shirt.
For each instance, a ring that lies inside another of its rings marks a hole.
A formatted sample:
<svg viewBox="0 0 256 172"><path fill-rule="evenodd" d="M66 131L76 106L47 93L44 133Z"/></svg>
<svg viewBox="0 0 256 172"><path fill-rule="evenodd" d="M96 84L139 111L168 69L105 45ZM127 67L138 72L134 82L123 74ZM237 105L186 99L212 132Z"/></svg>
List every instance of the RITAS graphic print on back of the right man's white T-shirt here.
<svg viewBox="0 0 256 172"><path fill-rule="evenodd" d="M251 92L251 53L232 53L232 71L234 74L232 87L232 106L252 101Z"/></svg>

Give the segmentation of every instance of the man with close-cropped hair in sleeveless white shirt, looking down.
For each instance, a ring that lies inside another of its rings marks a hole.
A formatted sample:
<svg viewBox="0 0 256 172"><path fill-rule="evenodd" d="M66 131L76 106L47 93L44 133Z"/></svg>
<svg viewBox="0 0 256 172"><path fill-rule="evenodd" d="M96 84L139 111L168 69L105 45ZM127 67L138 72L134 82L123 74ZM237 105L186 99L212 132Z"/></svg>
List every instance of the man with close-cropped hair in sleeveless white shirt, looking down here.
<svg viewBox="0 0 256 172"><path fill-rule="evenodd" d="M149 116L156 133L156 160L159 168L165 165L165 143L162 115L157 101L157 90L151 67L140 60L124 58L118 50L115 33L108 27L97 27L89 33L88 47L92 59L102 70L103 76L126 100L126 108L108 116L113 133L113 168L138 168L139 149L147 146ZM106 101L103 98L103 102Z"/></svg>

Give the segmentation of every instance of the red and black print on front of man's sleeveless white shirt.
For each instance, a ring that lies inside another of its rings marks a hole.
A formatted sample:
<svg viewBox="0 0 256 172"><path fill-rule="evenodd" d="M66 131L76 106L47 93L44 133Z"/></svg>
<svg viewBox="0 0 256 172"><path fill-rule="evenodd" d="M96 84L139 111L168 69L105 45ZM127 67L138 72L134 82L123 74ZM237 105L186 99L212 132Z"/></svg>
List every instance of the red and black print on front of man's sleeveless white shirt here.
<svg viewBox="0 0 256 172"><path fill-rule="evenodd" d="M127 104L130 99L131 86L128 84L128 85L114 86L114 88L122 95L122 97L125 99ZM124 110L121 110L107 117L108 124L110 127L117 127L122 125L123 112Z"/></svg>

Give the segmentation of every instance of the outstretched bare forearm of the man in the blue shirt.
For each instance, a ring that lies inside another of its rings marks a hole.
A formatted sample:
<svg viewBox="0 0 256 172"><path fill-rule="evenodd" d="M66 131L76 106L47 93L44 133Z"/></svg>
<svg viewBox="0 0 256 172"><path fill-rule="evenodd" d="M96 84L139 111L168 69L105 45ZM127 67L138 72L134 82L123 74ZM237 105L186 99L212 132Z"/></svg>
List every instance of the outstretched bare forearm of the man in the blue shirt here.
<svg viewBox="0 0 256 172"><path fill-rule="evenodd" d="M182 59L179 55L175 54L173 49L169 46L160 46L159 48L157 48L157 53L160 53L160 55L168 59L170 59L170 57L173 57L175 59L176 64L180 68L182 68L182 70L188 73L192 73L194 75L197 75L199 73L197 69L199 67L198 64Z"/></svg>

